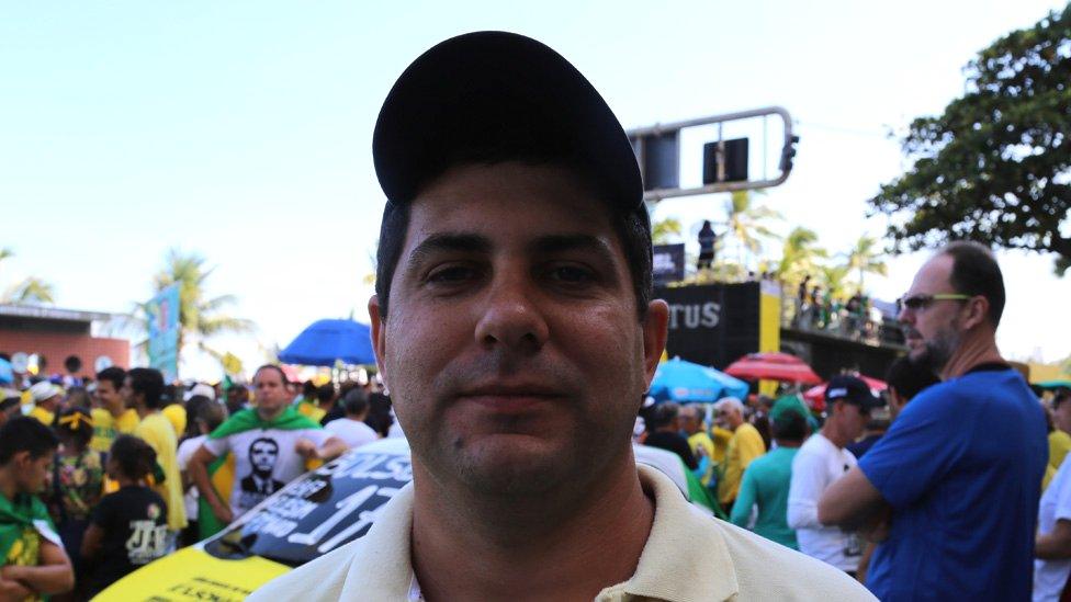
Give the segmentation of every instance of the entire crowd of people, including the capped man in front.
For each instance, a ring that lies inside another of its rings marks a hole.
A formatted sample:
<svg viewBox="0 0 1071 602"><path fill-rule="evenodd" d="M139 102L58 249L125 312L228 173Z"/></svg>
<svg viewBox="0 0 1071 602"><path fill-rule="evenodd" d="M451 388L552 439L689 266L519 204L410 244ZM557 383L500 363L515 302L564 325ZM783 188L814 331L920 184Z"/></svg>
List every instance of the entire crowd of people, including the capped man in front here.
<svg viewBox="0 0 1071 602"><path fill-rule="evenodd" d="M575 67L516 34L448 39L392 88L372 150L387 197L372 343L413 482L250 600L1069 594L1071 404L1042 402L1001 356L983 246L949 243L915 275L884 404L838 375L824 416L793 395L641 410L669 308L652 298L633 148ZM2 406L5 598L92 591L181 545L190 482L200 535L370 439L337 421L391 432L372 391L339 402L279 366L189 400L156 371L105 372L81 405L42 382ZM638 464L630 432L678 453L731 522ZM217 488L224 456L235 477Z"/></svg>

